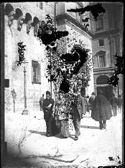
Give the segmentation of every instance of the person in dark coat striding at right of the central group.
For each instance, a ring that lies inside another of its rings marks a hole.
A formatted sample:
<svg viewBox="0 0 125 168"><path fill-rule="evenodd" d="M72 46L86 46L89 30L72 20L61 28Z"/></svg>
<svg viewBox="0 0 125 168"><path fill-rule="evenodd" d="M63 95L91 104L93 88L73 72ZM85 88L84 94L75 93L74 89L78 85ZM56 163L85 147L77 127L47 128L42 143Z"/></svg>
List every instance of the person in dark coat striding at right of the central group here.
<svg viewBox="0 0 125 168"><path fill-rule="evenodd" d="M80 94L75 96L75 101L71 103L71 115L73 119L73 125L75 128L75 140L78 140L80 135L80 122L85 114L85 99Z"/></svg>

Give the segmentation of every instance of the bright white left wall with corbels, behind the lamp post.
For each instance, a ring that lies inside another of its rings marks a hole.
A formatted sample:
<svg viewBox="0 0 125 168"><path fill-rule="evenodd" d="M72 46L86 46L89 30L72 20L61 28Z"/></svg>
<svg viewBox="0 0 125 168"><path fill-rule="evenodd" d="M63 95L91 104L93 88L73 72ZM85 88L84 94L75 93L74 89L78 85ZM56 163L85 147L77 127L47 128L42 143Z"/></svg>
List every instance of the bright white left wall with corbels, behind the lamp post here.
<svg viewBox="0 0 125 168"><path fill-rule="evenodd" d="M10 5L15 11L20 9L23 17L29 13L32 16L32 22L34 17L40 21L44 20L45 14L48 14L47 9L52 8L46 3L38 2L11 3ZM4 6L6 7L6 4ZM45 74L45 45L34 35L33 26L31 26L29 33L27 33L27 24L23 24L19 31L18 20L14 19L13 24L8 26L9 17L5 15L5 79L9 79L9 87L5 89L5 109L14 111L12 94L14 91L16 94L15 112L22 113L24 109L24 64L17 66L16 61L19 59L18 42L23 42L26 45L26 97L27 109L30 112L39 110L40 96L45 94L46 90L50 90L50 84Z"/></svg>

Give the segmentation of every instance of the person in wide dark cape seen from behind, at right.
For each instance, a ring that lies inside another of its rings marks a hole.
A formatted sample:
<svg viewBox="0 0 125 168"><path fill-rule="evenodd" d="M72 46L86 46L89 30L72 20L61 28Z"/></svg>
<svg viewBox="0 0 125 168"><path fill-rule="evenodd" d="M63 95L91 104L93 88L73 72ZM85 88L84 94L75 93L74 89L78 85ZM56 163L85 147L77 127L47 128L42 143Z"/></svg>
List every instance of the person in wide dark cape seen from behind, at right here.
<svg viewBox="0 0 125 168"><path fill-rule="evenodd" d="M91 117L99 121L100 129L106 128L106 120L112 117L111 105L100 90L93 102Z"/></svg>

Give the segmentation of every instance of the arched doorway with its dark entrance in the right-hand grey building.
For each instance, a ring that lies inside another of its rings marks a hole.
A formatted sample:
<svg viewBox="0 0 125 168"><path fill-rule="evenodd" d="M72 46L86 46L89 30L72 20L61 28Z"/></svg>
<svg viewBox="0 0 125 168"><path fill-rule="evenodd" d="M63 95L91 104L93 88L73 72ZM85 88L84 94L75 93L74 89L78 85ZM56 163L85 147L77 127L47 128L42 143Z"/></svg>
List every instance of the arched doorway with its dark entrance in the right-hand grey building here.
<svg viewBox="0 0 125 168"><path fill-rule="evenodd" d="M113 87L107 84L109 77L106 75L101 75L97 78L97 92L98 90L102 90L104 96L109 100L113 93Z"/></svg>

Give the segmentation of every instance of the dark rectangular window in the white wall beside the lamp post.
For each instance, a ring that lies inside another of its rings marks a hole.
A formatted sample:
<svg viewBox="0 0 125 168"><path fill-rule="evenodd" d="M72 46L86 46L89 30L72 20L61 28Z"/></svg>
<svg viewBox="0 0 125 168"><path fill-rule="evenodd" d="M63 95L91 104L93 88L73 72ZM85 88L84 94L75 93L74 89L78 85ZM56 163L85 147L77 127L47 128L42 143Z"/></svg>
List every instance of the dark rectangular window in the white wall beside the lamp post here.
<svg viewBox="0 0 125 168"><path fill-rule="evenodd" d="M32 61L32 83L41 84L40 64Z"/></svg>

